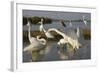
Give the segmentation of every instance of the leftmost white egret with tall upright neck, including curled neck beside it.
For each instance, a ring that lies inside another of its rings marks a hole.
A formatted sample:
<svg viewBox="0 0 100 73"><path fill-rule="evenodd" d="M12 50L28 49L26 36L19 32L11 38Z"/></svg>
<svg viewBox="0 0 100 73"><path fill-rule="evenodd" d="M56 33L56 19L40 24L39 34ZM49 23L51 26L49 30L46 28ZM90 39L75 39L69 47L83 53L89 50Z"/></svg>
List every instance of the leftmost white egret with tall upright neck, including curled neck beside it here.
<svg viewBox="0 0 100 73"><path fill-rule="evenodd" d="M40 36L32 37L30 34L30 22L28 21L28 38L30 41L30 45L24 48L24 51L36 51L36 50L41 50L45 48L46 46L46 40L43 38L40 38Z"/></svg>

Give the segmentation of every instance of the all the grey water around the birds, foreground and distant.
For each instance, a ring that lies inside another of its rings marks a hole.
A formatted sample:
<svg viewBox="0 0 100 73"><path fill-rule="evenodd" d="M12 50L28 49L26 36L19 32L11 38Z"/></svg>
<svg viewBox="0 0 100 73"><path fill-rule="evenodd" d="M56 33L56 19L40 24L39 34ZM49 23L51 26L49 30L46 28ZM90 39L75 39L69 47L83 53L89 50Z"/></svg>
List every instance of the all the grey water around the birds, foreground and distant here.
<svg viewBox="0 0 100 73"><path fill-rule="evenodd" d="M65 22L67 27L70 28L68 22ZM83 22L72 22L73 26L72 29L79 27L82 28L89 28L90 24L86 27ZM49 28L56 28L64 30L64 27L59 22L53 22L52 24L45 24L44 28L47 30ZM23 31L27 31L27 26L23 27ZM32 25L31 30L38 30L39 25ZM69 32L69 29L64 30L64 32ZM68 33L70 35L71 31ZM68 52L61 50L57 45L58 41L48 41L46 48L40 51L33 52L31 55L28 52L23 52L23 62L31 62L33 61L58 61L58 60L83 60L83 59L91 59L91 41L85 40L83 35L80 34L79 42L82 44L82 47L79 48L76 52L73 50L68 50ZM23 42L23 48L28 46L29 42Z"/></svg>

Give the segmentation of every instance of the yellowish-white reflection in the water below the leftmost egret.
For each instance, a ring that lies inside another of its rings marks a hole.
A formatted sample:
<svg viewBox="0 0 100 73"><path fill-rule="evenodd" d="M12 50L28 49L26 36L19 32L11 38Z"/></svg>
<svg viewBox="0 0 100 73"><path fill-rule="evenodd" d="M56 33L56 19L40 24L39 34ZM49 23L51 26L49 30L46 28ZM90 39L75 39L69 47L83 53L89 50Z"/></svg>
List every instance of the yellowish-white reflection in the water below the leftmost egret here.
<svg viewBox="0 0 100 73"><path fill-rule="evenodd" d="M25 43L29 44L29 43ZM25 47L25 46L24 46ZM37 50L37 51L32 51L31 54L30 52L23 52L24 53L24 58L25 58L25 54L26 54L26 58L28 59L24 59L25 62L37 62L37 61L42 61L43 58L48 55L48 53L50 53L51 51L51 42L47 43L46 47L41 49L41 50ZM29 55L28 55L29 54ZM29 58L30 56L30 58Z"/></svg>

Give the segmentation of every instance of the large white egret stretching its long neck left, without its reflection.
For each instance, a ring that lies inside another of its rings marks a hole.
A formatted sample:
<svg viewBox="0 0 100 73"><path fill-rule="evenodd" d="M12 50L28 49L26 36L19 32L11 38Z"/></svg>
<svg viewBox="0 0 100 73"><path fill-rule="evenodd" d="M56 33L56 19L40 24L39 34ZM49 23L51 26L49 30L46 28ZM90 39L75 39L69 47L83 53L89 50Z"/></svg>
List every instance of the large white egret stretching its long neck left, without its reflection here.
<svg viewBox="0 0 100 73"><path fill-rule="evenodd" d="M69 43L73 49L79 49L79 47L81 46L81 44L78 42L78 39L73 39L55 28L51 28L48 31L55 31L56 33L58 33L63 37L62 39L59 40L58 45Z"/></svg>

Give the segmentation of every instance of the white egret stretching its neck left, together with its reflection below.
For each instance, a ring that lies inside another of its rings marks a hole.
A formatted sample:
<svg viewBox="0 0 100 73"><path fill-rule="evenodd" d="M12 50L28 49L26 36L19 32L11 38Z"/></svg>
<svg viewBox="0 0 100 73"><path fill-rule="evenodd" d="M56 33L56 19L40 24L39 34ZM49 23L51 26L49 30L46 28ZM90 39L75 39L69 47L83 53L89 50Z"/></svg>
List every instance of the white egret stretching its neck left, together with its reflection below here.
<svg viewBox="0 0 100 73"><path fill-rule="evenodd" d="M81 46L78 39L73 39L55 28L51 28L48 31L55 31L57 34L63 37L57 43L61 48L58 51L61 59L68 59L69 57L72 57L76 50Z"/></svg>

